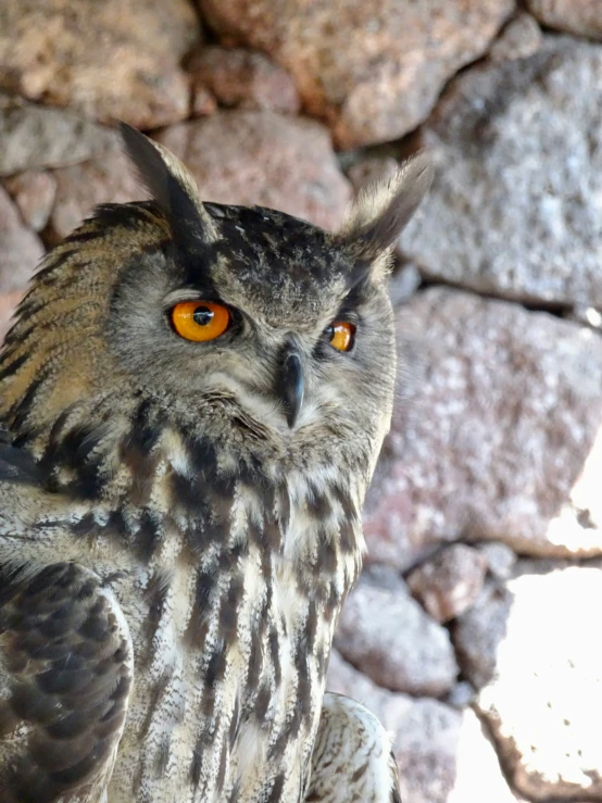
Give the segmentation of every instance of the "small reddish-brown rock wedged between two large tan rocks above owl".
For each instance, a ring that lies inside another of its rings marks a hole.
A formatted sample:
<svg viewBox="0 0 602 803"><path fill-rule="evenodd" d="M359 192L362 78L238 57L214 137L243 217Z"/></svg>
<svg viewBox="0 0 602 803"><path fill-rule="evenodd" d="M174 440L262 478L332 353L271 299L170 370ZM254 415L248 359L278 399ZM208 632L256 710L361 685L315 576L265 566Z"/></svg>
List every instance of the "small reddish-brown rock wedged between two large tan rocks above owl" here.
<svg viewBox="0 0 602 803"><path fill-rule="evenodd" d="M291 76L263 53L243 48L203 47L188 63L197 95L211 92L223 106L297 114L299 93Z"/></svg>

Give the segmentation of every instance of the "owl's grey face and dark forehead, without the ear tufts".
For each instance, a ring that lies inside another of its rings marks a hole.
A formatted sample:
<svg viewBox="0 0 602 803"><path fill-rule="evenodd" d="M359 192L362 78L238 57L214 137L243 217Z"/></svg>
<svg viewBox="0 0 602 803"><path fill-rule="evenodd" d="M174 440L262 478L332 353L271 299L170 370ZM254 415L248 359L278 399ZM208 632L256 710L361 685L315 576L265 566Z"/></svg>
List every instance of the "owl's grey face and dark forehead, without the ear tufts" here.
<svg viewBox="0 0 602 803"><path fill-rule="evenodd" d="M179 417L285 443L381 426L394 376L384 276L288 215L204 209L215 239L124 267L105 335L117 364Z"/></svg>

